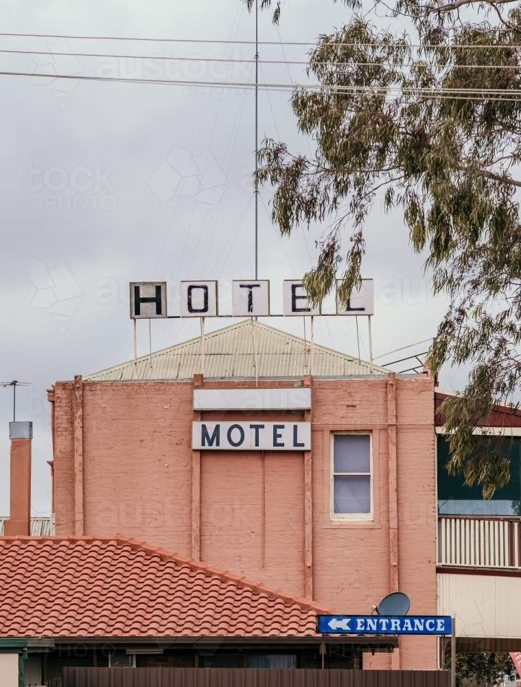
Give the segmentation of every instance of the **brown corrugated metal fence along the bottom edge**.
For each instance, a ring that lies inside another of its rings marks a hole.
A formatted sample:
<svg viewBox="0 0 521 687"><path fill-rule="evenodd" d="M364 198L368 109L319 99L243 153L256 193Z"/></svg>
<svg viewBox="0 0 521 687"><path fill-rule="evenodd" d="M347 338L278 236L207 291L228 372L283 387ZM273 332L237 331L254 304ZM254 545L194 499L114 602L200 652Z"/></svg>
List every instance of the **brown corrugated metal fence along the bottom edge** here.
<svg viewBox="0 0 521 687"><path fill-rule="evenodd" d="M63 687L450 687L449 671L63 668Z"/></svg>

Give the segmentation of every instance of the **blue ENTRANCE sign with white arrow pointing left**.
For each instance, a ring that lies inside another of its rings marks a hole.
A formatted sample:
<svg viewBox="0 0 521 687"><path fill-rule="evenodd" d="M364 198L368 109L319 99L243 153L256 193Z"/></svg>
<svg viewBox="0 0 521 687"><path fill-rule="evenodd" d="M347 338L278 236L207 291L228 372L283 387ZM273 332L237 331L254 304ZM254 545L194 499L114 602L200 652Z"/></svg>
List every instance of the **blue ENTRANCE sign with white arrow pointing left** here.
<svg viewBox="0 0 521 687"><path fill-rule="evenodd" d="M327 634L450 635L450 616L316 616L316 631Z"/></svg>

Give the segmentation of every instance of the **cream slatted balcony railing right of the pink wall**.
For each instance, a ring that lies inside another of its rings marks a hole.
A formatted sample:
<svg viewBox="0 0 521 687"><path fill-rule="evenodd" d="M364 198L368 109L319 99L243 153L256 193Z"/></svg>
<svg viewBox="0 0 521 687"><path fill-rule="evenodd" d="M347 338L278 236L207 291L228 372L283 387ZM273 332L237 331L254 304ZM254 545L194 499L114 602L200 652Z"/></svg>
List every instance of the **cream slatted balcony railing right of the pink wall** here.
<svg viewBox="0 0 521 687"><path fill-rule="evenodd" d="M438 564L519 568L520 538L519 520L441 515L438 519Z"/></svg>

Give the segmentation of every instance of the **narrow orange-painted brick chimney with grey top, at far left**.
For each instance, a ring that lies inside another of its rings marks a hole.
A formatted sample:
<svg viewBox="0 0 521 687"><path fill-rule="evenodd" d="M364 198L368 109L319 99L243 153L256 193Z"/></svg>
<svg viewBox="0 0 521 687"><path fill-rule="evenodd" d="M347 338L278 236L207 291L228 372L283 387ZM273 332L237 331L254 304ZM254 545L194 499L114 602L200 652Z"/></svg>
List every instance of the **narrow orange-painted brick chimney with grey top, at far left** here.
<svg viewBox="0 0 521 687"><path fill-rule="evenodd" d="M11 440L10 514L6 536L31 534L31 442L32 423L9 423Z"/></svg>

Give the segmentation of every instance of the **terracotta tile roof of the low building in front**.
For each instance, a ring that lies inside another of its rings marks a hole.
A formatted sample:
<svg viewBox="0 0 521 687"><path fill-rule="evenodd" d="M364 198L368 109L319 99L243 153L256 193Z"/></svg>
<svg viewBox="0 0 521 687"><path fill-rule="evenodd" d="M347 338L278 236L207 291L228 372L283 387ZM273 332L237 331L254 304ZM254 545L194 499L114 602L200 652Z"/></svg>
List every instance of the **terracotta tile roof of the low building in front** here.
<svg viewBox="0 0 521 687"><path fill-rule="evenodd" d="M0 637L314 635L330 612L119 534L0 537Z"/></svg>

